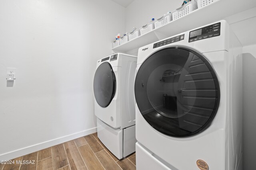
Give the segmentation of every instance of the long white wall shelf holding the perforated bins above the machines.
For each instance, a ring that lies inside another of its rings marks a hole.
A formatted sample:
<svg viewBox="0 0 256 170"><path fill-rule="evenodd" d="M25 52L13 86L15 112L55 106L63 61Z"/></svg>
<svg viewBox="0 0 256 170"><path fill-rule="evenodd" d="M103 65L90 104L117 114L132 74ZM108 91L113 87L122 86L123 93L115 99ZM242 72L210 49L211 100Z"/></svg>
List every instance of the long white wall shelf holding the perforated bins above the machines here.
<svg viewBox="0 0 256 170"><path fill-rule="evenodd" d="M256 6L255 0L218 0L208 6L192 11L190 14L170 21L170 23L153 29L152 31L139 36L136 39L128 41L112 49L113 53L134 53L138 48L144 45L171 37L173 35L206 25L226 17L232 16L239 12L249 10Z"/></svg>

